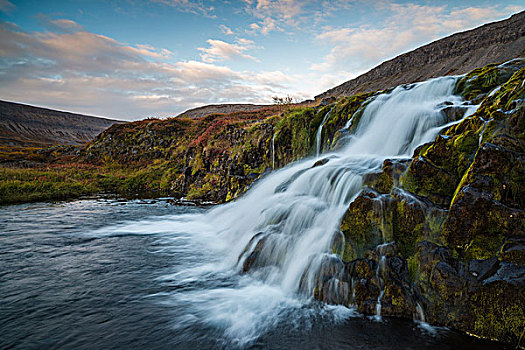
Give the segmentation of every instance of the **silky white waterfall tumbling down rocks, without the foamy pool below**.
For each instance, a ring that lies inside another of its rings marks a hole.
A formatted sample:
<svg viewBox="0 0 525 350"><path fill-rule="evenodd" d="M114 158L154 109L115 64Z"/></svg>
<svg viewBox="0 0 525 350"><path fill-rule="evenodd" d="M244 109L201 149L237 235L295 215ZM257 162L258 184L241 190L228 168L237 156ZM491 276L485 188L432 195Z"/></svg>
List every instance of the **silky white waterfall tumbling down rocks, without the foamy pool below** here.
<svg viewBox="0 0 525 350"><path fill-rule="evenodd" d="M238 201L211 211L207 220L216 222L230 243L229 263L257 270L260 279L286 292L297 292L306 278L303 285L311 292L319 257L329 254L363 175L378 171L388 157L409 157L437 135L446 122L438 105L460 102L452 95L456 79L437 78L378 95L364 109L354 137L327 154L326 164L312 167L318 157L293 163Z"/></svg>

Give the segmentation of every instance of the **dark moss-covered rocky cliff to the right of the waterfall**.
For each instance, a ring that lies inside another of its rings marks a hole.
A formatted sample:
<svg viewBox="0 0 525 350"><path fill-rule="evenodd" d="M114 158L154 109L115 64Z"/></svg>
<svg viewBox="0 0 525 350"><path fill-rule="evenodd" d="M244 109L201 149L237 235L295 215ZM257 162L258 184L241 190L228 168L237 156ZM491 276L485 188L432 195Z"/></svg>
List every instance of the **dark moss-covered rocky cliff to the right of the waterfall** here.
<svg viewBox="0 0 525 350"><path fill-rule="evenodd" d="M384 256L384 315L424 310L432 324L523 346L523 66L489 65L460 79L457 93L479 103L477 112L368 177L341 223L342 283L361 312L375 312L381 277L373 272Z"/></svg>

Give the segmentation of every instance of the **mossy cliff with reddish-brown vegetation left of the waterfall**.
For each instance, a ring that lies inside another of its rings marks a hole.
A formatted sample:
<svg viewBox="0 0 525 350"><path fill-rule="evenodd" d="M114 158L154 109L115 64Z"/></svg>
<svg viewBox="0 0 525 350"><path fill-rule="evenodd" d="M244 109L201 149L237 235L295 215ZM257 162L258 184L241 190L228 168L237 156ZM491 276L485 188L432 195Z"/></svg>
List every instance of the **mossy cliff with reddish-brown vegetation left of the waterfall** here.
<svg viewBox="0 0 525 350"><path fill-rule="evenodd" d="M324 149L335 147L338 130L369 95L335 105L323 128ZM317 130L332 107L114 125L81 154L90 164L135 169L125 180L128 192L222 203L244 193L262 174L315 153Z"/></svg>

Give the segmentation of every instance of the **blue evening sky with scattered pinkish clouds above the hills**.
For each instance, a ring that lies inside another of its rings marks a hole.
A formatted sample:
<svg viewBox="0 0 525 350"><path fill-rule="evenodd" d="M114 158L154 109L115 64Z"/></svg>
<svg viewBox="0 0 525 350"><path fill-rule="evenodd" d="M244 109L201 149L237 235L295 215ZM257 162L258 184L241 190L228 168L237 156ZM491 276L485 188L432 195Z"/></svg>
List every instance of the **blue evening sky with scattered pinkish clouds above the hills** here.
<svg viewBox="0 0 525 350"><path fill-rule="evenodd" d="M0 0L0 99L121 120L311 99L523 9L523 0Z"/></svg>

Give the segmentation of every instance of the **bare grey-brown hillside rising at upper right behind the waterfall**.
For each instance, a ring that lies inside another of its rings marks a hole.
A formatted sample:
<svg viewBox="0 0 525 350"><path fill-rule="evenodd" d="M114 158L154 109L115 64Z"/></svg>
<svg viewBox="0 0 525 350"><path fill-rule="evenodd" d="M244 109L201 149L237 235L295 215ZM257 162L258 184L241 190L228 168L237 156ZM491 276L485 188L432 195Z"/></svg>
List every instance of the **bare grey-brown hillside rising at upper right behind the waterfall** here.
<svg viewBox="0 0 525 350"><path fill-rule="evenodd" d="M315 98L350 96L439 76L465 74L489 63L523 56L524 53L525 11L397 56Z"/></svg>

